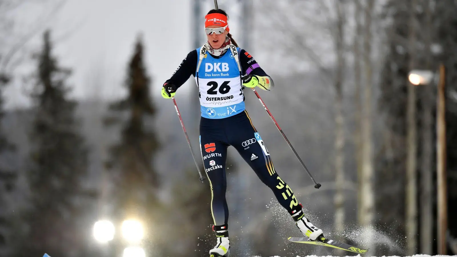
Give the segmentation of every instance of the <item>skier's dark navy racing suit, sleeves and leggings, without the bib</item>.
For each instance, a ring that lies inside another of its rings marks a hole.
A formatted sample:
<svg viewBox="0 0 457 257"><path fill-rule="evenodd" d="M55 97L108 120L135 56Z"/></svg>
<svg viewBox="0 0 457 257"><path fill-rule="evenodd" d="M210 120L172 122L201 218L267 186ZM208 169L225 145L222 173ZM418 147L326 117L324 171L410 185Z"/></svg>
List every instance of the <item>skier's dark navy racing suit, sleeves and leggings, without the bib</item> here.
<svg viewBox="0 0 457 257"><path fill-rule="evenodd" d="M187 54L179 68L165 83L172 83L176 88L179 88L191 75L195 77L197 56L197 50ZM242 74L267 76L255 59L246 51L241 49L239 56ZM228 206L225 198L227 188L225 164L229 145L239 152L260 180L271 188L278 202L287 209L294 220L297 221L303 217L303 212L298 212L302 209L300 204L291 188L276 173L271 156L246 110L221 119L202 117L200 120L200 140L203 164L211 185L211 210L214 228L216 231L218 228L224 228L224 232L218 233L218 236L228 236L226 229L228 226ZM301 215L293 216L293 214L298 213Z"/></svg>

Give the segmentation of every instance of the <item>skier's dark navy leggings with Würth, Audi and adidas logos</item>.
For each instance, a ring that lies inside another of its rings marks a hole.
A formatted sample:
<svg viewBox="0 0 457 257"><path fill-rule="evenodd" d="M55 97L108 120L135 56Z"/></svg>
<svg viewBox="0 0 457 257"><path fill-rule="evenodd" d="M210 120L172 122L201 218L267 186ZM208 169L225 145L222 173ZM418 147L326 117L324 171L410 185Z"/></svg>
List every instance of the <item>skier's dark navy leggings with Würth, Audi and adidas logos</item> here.
<svg viewBox="0 0 457 257"><path fill-rule="evenodd" d="M271 156L255 130L248 112L222 119L201 118L200 149L211 187L214 225L228 224L225 161L229 145L239 152L260 180L271 188L282 207L291 215L301 210L292 189L276 173Z"/></svg>

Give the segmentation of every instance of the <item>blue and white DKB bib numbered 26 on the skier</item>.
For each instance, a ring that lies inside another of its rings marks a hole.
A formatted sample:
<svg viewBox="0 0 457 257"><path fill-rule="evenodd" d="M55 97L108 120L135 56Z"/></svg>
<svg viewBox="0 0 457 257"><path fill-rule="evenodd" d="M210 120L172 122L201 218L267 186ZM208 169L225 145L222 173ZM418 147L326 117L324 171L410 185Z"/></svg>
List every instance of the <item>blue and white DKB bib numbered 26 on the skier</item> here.
<svg viewBox="0 0 457 257"><path fill-rule="evenodd" d="M239 65L235 60L238 59L239 48L227 51L219 59L202 48L197 48L197 53L204 54L195 74L202 117L220 119L244 111Z"/></svg>

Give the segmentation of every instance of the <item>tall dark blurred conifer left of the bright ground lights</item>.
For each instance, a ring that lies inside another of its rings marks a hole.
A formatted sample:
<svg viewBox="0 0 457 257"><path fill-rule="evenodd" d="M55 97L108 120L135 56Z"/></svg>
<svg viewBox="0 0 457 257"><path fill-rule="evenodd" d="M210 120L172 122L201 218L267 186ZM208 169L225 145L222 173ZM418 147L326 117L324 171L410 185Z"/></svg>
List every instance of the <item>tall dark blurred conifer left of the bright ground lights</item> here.
<svg viewBox="0 0 457 257"><path fill-rule="evenodd" d="M32 75L35 118L29 135L30 166L27 178L30 207L28 225L16 256L81 256L87 231L81 220L87 200L95 195L85 188L88 149L75 117L77 103L68 99L70 70L59 67L52 56L50 32L43 33L43 49L34 56ZM18 231L19 232L19 231Z"/></svg>

